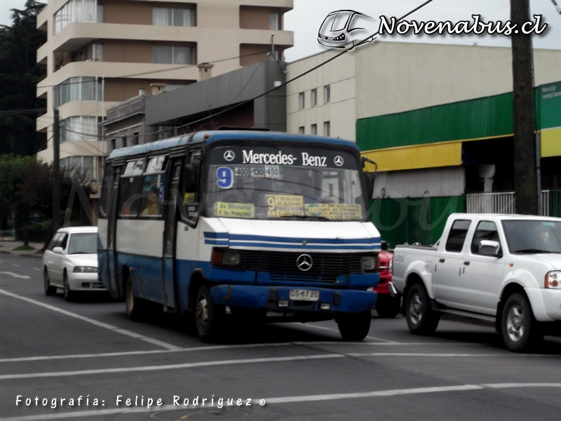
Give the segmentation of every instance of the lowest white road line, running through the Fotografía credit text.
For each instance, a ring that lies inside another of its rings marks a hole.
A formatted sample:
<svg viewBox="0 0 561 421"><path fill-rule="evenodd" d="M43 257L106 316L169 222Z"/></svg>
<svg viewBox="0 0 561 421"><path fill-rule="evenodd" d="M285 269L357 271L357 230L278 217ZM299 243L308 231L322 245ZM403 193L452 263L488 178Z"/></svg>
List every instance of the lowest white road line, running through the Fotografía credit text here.
<svg viewBox="0 0 561 421"><path fill-rule="evenodd" d="M348 394L325 394L325 395L310 395L310 396L288 396L283 398L269 398L265 399L266 404L273 403L296 403L296 402L313 402L313 401L328 401L332 399L358 399L358 398L377 398L386 396L400 396L412 394L427 394L427 393L445 393L445 392L471 392L473 390L490 389L509 389L513 387L561 387L561 383L501 383L490 385L457 385L457 386L442 386L442 387L417 387L413 389L390 389L390 390L377 390L374 392L363 393L348 393ZM252 399L252 405L256 405L259 399ZM177 410L177 409L201 409L202 406L174 406L162 405L152 406L146 408L144 406L137 408L114 408L114 409L100 409L100 410L79 410L67 413L49 413L42 415L26 415L22 417L6 417L0 418L0 421L44 421L44 420L63 420L65 418L81 418L81 417L102 417L113 414L133 414L133 413L156 413L163 410ZM204 408L212 408L212 406L205 406Z"/></svg>

